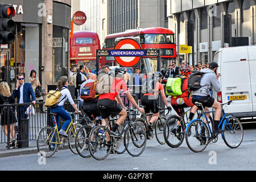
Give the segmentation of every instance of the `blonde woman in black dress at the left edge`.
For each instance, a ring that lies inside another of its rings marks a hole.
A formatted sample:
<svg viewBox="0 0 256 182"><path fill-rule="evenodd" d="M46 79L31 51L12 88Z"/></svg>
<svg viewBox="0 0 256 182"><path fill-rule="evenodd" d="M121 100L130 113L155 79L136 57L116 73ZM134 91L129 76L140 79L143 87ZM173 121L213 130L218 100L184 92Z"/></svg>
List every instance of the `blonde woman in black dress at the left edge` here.
<svg viewBox="0 0 256 182"><path fill-rule="evenodd" d="M0 83L0 105L1 106L1 126L3 133L8 136L8 124L10 125L10 148L15 147L15 130L14 123L16 122L15 107L5 106L6 104L15 104L13 95L10 92L10 87L7 82Z"/></svg>

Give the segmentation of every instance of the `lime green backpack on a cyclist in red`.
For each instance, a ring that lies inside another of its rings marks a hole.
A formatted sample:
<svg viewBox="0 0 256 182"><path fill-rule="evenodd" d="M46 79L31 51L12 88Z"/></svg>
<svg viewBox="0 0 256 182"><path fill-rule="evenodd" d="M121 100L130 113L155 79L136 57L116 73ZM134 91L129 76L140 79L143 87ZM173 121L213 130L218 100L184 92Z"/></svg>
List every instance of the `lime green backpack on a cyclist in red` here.
<svg viewBox="0 0 256 182"><path fill-rule="evenodd" d="M166 94L168 96L180 96L185 90L183 88L183 82L185 78L168 78L166 83Z"/></svg>

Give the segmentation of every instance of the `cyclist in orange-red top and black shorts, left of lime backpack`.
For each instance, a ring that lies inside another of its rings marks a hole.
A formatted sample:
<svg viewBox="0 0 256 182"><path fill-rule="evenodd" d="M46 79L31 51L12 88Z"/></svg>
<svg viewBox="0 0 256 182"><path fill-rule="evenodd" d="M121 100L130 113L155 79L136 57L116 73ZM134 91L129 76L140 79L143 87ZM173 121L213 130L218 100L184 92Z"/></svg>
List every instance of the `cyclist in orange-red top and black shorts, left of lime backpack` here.
<svg viewBox="0 0 256 182"><path fill-rule="evenodd" d="M159 79L158 79L158 82L156 82L154 94L153 93L145 93L144 96L142 97L142 105L144 106L145 113L150 114L150 111L153 113L152 117L151 117L151 115L147 115L147 121L149 121L148 126L151 131L153 131L152 130L153 123L156 122L156 120L159 117L159 109L158 109L159 91L160 91L161 97L164 101L164 104L166 105L166 107L168 109L171 110L171 106L168 106L166 95L164 94L164 87L161 84L163 75L161 72L155 72L154 77L155 76L158 77Z"/></svg>

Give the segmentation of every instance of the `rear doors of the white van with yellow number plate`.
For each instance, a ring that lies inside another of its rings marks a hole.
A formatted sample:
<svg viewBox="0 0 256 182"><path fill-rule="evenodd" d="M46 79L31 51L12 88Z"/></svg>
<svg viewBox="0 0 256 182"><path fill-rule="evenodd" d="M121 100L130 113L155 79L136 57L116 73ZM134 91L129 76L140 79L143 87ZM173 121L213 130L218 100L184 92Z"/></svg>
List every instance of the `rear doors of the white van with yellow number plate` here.
<svg viewBox="0 0 256 182"><path fill-rule="evenodd" d="M251 80L247 47L222 49L221 90L223 102L233 100L226 113L253 111Z"/></svg>

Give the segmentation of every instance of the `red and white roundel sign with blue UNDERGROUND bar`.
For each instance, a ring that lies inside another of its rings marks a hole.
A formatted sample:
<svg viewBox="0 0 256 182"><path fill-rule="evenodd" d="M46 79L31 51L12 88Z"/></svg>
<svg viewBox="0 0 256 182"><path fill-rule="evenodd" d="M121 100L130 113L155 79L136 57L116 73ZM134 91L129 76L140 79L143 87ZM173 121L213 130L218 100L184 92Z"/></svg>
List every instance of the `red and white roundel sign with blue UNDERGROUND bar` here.
<svg viewBox="0 0 256 182"><path fill-rule="evenodd" d="M123 67L132 67L137 64L141 57L145 55L141 45L133 39L122 39L110 52L111 56L115 57L118 64Z"/></svg>

